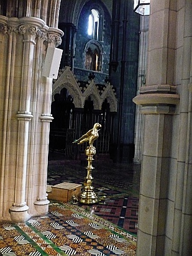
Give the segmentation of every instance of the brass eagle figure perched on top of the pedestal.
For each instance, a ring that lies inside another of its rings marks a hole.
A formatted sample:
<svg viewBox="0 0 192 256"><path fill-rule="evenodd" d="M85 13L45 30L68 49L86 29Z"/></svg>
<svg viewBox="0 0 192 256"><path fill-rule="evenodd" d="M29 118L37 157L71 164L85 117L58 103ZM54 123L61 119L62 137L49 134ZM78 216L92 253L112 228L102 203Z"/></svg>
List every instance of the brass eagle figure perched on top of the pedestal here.
<svg viewBox="0 0 192 256"><path fill-rule="evenodd" d="M93 126L93 129L88 130L88 132L86 132L86 134L82 135L80 137L80 139L74 140L73 143L82 144L84 142L89 142L89 147L93 147L94 140L98 139L98 137L99 137L99 133L98 133L99 127L101 127L101 124L96 122Z"/></svg>

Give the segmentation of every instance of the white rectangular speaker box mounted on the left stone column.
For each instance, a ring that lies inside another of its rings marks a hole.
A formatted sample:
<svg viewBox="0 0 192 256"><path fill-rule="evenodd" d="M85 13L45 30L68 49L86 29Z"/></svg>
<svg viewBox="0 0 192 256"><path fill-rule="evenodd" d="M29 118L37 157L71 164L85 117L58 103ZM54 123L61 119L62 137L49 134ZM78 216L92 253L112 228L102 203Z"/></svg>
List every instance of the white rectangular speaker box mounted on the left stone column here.
<svg viewBox="0 0 192 256"><path fill-rule="evenodd" d="M42 76L57 79L58 69L62 58L62 52L63 50L55 47L47 48L47 54L45 57Z"/></svg>

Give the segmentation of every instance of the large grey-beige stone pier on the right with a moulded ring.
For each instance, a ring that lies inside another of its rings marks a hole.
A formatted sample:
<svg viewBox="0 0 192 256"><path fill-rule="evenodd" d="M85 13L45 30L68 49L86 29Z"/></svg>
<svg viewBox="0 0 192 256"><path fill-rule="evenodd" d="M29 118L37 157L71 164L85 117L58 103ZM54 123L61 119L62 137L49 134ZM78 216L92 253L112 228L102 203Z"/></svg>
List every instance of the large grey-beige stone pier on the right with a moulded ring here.
<svg viewBox="0 0 192 256"><path fill-rule="evenodd" d="M192 2L151 1L137 256L190 255Z"/></svg>

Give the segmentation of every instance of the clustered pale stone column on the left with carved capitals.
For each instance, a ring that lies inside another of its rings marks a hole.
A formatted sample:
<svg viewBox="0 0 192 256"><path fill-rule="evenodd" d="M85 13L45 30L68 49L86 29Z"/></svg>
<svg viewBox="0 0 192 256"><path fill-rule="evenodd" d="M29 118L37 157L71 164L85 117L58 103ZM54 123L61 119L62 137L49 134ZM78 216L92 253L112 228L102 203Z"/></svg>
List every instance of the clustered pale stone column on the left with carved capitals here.
<svg viewBox="0 0 192 256"><path fill-rule="evenodd" d="M52 79L42 76L47 47L63 32L37 17L0 19L2 160L0 219L22 222L48 211L47 162ZM8 47L7 47L8 45ZM6 61L7 60L7 61Z"/></svg>

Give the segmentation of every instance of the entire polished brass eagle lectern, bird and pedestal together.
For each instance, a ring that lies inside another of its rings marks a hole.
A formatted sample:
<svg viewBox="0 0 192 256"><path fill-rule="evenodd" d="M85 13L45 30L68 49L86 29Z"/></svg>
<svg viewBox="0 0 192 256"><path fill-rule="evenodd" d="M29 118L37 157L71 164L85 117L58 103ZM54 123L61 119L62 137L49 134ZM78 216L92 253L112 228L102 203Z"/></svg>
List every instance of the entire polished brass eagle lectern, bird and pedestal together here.
<svg viewBox="0 0 192 256"><path fill-rule="evenodd" d="M79 203L82 203L82 204L94 204L94 203L98 203L98 201L99 201L98 194L96 194L93 190L94 189L92 186L93 177L91 175L91 171L94 169L94 167L92 166L92 161L94 160L93 156L96 154L96 148L93 147L93 142L94 142L94 140L98 139L98 137L99 137L99 133L98 133L99 127L101 127L101 124L96 122L96 124L94 124L94 126L93 126L93 129L89 130L88 132L86 132L86 134L81 136L80 139L75 140L73 142L73 143L78 143L78 144L82 144L84 142L89 142L89 147L86 147L86 150L85 150L85 153L88 156L88 158L87 158L88 167L86 167L88 172L85 177L85 181L83 183L82 190L81 190L80 194L78 194L78 201L79 201Z"/></svg>

